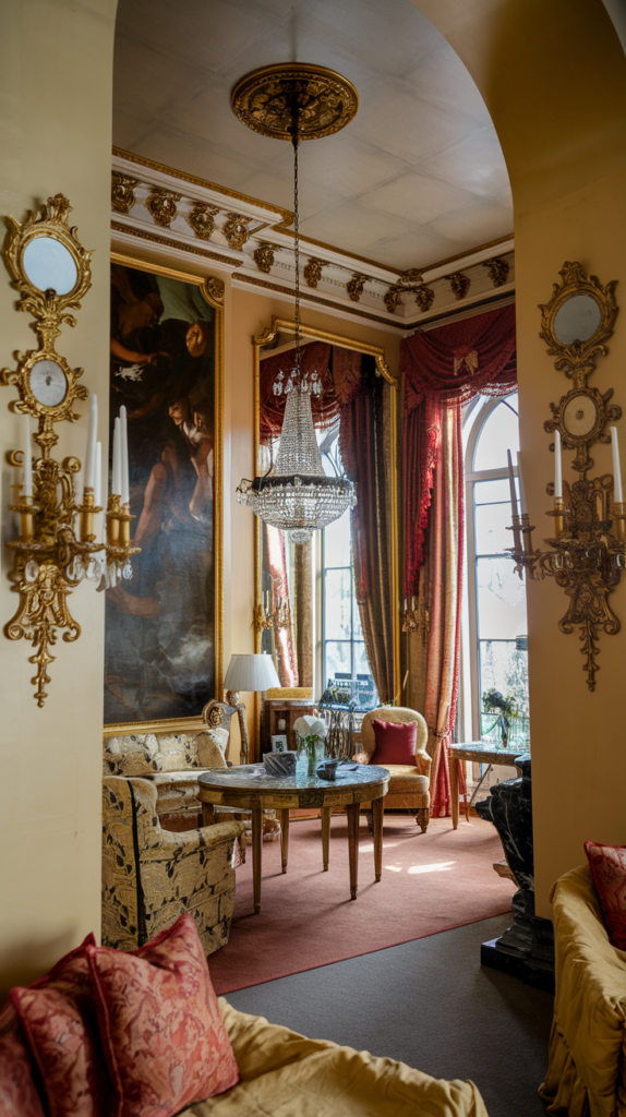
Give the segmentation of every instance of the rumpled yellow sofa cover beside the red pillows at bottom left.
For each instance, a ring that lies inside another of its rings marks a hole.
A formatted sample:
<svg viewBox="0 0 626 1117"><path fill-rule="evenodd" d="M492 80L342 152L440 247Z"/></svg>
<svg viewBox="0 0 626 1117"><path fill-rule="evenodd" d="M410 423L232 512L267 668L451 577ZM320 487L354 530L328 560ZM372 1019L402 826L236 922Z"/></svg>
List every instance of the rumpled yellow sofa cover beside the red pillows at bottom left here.
<svg viewBox="0 0 626 1117"><path fill-rule="evenodd" d="M308 1040L220 997L241 1081L180 1117L488 1117L473 1082Z"/></svg>

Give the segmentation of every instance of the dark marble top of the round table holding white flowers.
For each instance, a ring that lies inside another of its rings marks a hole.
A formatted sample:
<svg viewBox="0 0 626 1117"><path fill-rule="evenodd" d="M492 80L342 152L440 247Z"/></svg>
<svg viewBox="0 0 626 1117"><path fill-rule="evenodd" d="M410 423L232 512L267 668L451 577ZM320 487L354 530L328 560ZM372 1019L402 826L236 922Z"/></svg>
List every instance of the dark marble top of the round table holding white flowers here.
<svg viewBox="0 0 626 1117"><path fill-rule="evenodd" d="M389 773L375 764L341 764L337 768L335 780L320 780L319 776L275 776L266 772L262 764L240 764L231 768L213 768L202 772L198 782L205 786L224 787L232 791L252 791L263 794L290 791L331 791L367 784L383 783L389 780Z"/></svg>

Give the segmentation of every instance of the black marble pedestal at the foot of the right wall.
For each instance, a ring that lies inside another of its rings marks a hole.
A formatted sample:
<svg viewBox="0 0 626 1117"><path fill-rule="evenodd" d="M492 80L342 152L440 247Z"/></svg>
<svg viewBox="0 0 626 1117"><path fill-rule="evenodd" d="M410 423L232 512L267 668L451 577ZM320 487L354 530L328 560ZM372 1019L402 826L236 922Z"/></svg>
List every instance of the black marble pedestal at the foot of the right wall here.
<svg viewBox="0 0 626 1117"><path fill-rule="evenodd" d="M553 993L552 924L534 915L530 756L516 757L516 765L521 768L521 777L497 784L489 799L476 803L480 818L493 822L498 830L509 868L520 886L513 896L513 923L500 938L482 944L481 963Z"/></svg>

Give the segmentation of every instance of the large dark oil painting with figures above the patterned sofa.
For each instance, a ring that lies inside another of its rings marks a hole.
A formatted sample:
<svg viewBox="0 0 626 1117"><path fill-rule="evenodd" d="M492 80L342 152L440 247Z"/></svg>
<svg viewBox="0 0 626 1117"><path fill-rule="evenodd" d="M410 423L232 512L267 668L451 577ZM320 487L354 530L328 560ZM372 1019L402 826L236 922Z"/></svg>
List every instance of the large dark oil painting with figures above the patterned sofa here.
<svg viewBox="0 0 626 1117"><path fill-rule="evenodd" d="M105 724L180 720L218 681L221 308L201 280L123 258L110 302L110 424L125 404L142 551L106 591Z"/></svg>

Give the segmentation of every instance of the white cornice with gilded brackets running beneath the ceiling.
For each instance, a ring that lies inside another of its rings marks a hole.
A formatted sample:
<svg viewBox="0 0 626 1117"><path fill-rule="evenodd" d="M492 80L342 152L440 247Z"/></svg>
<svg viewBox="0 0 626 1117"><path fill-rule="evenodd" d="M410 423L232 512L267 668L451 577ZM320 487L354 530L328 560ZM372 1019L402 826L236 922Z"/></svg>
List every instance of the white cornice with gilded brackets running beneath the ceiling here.
<svg viewBox="0 0 626 1117"><path fill-rule="evenodd" d="M158 220L158 210L168 225ZM295 287L291 217L280 207L193 175L114 153L112 230L119 250L127 251L139 238L166 249L173 259L191 254L215 270L233 273L234 286L253 286L287 299ZM465 309L514 290L512 237L405 271L301 237L300 261L305 304L367 318L402 334L456 312L459 299ZM464 294L458 295L453 285Z"/></svg>

